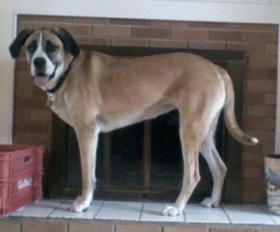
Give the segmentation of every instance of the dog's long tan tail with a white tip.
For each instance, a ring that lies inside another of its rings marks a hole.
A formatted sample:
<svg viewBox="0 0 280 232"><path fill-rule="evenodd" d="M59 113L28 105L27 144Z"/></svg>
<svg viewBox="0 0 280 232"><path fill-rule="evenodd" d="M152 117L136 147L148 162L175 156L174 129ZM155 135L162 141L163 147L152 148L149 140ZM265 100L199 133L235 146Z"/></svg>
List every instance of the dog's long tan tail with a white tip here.
<svg viewBox="0 0 280 232"><path fill-rule="evenodd" d="M223 68L219 68L222 74L222 78L225 82L225 105L223 106L225 124L228 127L228 130L232 134L232 136L239 141L240 143L246 145L255 145L258 143L258 138L248 136L244 131L242 131L237 124L235 118L235 92L232 85L232 79L230 75L223 70Z"/></svg>

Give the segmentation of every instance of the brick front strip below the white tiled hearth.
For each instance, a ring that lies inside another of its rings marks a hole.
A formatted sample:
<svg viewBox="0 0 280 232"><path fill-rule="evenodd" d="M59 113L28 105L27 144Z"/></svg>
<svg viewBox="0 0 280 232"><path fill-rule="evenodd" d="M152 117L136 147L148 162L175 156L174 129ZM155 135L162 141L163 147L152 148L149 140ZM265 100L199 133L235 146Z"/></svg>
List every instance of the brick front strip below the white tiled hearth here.
<svg viewBox="0 0 280 232"><path fill-rule="evenodd" d="M53 221L53 220L29 220L13 219L0 221L0 231L10 232L79 232L79 231L99 231L99 232L276 232L276 226L248 226L236 227L221 226L215 224L195 224L195 225L160 225L160 224L124 224L118 222L104 224L102 222L76 222Z"/></svg>

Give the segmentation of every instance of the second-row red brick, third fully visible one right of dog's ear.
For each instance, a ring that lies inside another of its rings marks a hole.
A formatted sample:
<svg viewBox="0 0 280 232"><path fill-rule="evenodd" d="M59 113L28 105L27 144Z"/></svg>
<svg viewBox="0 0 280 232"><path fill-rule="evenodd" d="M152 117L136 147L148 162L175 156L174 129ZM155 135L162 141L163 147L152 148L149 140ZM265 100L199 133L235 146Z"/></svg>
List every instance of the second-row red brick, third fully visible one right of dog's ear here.
<svg viewBox="0 0 280 232"><path fill-rule="evenodd" d="M208 40L207 29L172 29L172 38L174 39L188 39L193 41L207 41Z"/></svg>

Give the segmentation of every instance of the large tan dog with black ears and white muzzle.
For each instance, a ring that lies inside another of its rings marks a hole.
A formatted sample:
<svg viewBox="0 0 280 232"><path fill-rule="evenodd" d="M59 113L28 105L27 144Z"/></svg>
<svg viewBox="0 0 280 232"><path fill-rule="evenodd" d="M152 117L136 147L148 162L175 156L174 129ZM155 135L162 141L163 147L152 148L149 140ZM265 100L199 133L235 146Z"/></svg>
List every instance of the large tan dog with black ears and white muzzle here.
<svg viewBox="0 0 280 232"><path fill-rule="evenodd" d="M200 56L171 53L113 57L80 50L63 28L22 30L9 47L11 56L17 58L22 47L35 85L48 94L48 106L76 131L83 190L69 210L82 212L92 201L100 132L179 110L183 183L176 203L162 210L169 216L183 212L200 181L200 152L214 180L211 197L202 205L217 207L221 201L227 168L214 143L221 110L235 139L245 145L258 143L236 122L230 76Z"/></svg>

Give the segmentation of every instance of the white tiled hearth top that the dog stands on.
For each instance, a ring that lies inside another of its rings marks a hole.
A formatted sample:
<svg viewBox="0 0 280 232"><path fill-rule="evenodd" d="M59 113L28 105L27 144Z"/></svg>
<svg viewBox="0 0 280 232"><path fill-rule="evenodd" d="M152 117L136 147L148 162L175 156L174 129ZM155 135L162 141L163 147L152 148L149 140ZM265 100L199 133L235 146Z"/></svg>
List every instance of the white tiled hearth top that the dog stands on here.
<svg viewBox="0 0 280 232"><path fill-rule="evenodd" d="M280 225L280 216L272 215L265 205L222 205L204 208L188 204L183 214L165 217L160 212L167 203L93 201L86 212L69 212L71 201L41 200L10 214L12 217L59 219L98 219L131 222L172 222L200 224Z"/></svg>

